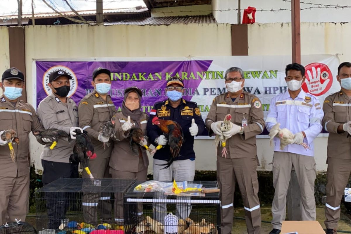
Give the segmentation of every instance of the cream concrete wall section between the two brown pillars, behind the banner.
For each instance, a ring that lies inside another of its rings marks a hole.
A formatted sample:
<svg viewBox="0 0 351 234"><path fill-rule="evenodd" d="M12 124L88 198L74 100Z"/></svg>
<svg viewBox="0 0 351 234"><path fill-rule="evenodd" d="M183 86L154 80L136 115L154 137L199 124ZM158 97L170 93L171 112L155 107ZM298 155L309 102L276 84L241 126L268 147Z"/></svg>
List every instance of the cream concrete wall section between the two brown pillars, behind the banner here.
<svg viewBox="0 0 351 234"><path fill-rule="evenodd" d="M172 57L231 55L230 25L188 24L170 26L28 26L25 28L27 86L33 87L32 59L92 57ZM189 40L191 35L191 40ZM28 90L32 102L33 91ZM212 142L212 141L211 141ZM196 142L197 169L215 169L214 157ZM31 138L30 151L40 169L41 146ZM202 160L201 160L202 159ZM149 167L152 170L152 167Z"/></svg>

